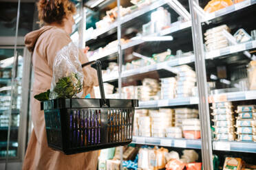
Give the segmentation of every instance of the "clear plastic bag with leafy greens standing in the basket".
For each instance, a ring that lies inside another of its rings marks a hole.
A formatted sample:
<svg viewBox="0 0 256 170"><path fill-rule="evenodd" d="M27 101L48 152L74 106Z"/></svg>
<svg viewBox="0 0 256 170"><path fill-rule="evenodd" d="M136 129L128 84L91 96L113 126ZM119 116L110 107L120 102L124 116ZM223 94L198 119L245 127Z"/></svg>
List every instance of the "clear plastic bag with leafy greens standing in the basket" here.
<svg viewBox="0 0 256 170"><path fill-rule="evenodd" d="M52 66L50 99L82 97L83 69L78 55L73 42L58 51Z"/></svg>

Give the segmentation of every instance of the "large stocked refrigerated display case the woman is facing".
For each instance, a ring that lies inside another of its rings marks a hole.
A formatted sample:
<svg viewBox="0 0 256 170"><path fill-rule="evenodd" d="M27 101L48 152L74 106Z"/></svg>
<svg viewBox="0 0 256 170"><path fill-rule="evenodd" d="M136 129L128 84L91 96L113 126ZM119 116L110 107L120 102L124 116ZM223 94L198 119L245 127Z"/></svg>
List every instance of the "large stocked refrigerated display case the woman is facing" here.
<svg viewBox="0 0 256 170"><path fill-rule="evenodd" d="M200 124L190 129L181 124L183 137L179 134L176 135L179 138L175 138L157 127L161 126L156 121L159 117L145 118L155 120L155 128L143 124L151 130L147 133L142 129L142 135L140 125L134 127L133 143L201 150L204 169L213 169L213 154L220 157L222 167L226 157L239 157L253 164L255 108L244 113L236 110L256 101L255 62L252 62L256 49L255 1L140 1L131 4L134 2L137 1L117 1L116 8L111 6L114 10L101 12L105 16L96 23L96 28L85 32L85 43L92 49L88 53L89 60L103 61L107 97L139 99L140 117L149 117L146 109L151 112L162 108L198 110ZM114 19L108 16L113 12L116 12ZM193 83L184 84L186 81ZM225 107L232 108L232 116L215 114L215 104L219 102L230 102ZM246 118L250 120L244 120L242 115L248 112ZM191 111L189 116L183 116L195 119L198 114ZM178 117L177 114L176 119ZM217 123L225 123L222 119L233 120L229 121L230 130L219 127ZM178 125L180 122L177 121ZM246 127L239 123L252 125ZM201 139L191 139L198 138L199 130Z"/></svg>

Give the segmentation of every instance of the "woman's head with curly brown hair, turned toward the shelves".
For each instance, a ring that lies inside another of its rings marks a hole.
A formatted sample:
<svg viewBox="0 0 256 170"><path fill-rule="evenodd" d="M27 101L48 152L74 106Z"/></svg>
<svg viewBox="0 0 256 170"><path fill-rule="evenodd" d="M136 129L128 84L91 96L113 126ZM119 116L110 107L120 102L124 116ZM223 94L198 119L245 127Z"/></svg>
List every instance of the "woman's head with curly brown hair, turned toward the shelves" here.
<svg viewBox="0 0 256 170"><path fill-rule="evenodd" d="M37 8L40 23L63 27L67 34L72 33L73 15L76 13L74 3L69 0L40 0Z"/></svg>

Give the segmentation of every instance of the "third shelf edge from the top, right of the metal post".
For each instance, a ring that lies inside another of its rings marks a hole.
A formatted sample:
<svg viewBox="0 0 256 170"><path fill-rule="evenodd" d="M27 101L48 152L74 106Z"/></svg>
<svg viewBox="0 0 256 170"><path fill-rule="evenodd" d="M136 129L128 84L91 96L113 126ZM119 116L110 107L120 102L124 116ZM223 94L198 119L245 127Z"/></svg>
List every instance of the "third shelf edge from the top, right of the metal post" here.
<svg viewBox="0 0 256 170"><path fill-rule="evenodd" d="M239 91L231 93L221 93L218 95L210 95L209 102L222 102L222 101L242 101L256 99L256 90Z"/></svg>

